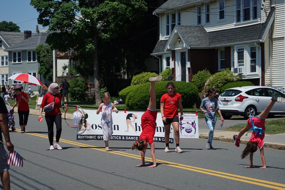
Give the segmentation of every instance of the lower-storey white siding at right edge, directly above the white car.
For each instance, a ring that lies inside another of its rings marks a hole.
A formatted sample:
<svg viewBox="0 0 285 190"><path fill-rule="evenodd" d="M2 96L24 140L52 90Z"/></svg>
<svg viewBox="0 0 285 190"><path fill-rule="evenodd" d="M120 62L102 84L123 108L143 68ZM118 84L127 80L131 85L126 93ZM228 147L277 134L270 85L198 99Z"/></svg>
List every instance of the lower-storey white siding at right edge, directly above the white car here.
<svg viewBox="0 0 285 190"><path fill-rule="evenodd" d="M284 86L284 37L273 39L272 86Z"/></svg>

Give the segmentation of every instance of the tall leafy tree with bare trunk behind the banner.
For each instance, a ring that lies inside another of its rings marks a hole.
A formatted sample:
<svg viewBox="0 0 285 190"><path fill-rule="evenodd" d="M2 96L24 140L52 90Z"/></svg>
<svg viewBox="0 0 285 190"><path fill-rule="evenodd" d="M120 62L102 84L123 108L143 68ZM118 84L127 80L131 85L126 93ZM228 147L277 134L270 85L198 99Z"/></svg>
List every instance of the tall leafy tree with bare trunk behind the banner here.
<svg viewBox="0 0 285 190"><path fill-rule="evenodd" d="M61 52L71 48L72 56L87 75L93 68L95 100L101 103L98 40L108 42L125 32L130 22L139 22L147 10L146 3L143 0L31 0L30 4L39 13L38 23L54 31L46 42Z"/></svg>

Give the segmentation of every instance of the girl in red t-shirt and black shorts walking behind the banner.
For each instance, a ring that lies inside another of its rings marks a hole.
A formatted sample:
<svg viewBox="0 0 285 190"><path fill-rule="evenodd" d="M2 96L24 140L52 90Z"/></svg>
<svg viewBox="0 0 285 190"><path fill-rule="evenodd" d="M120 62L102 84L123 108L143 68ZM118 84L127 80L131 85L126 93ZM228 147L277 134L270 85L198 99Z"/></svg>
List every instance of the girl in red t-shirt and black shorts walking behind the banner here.
<svg viewBox="0 0 285 190"><path fill-rule="evenodd" d="M181 94L174 92L175 85L172 82L166 84L165 88L168 93L162 95L160 99L160 113L165 129L165 144L166 148L164 152L170 152L169 149L169 134L170 134L170 125L172 124L174 137L176 142L175 152L182 153L183 151L179 146L179 121L183 120L183 107ZM178 106L180 110L180 119L178 119Z"/></svg>

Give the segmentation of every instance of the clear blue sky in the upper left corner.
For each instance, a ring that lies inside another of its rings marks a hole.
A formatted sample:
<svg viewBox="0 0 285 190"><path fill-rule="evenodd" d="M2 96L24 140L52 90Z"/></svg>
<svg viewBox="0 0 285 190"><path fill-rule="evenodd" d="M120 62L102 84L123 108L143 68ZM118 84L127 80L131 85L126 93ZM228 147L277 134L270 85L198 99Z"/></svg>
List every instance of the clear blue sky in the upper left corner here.
<svg viewBox="0 0 285 190"><path fill-rule="evenodd" d="M38 24L38 12L30 5L30 0L0 0L0 6L0 22L12 21L20 27L21 32L30 30L35 33L36 25L39 30L43 29L43 26Z"/></svg>

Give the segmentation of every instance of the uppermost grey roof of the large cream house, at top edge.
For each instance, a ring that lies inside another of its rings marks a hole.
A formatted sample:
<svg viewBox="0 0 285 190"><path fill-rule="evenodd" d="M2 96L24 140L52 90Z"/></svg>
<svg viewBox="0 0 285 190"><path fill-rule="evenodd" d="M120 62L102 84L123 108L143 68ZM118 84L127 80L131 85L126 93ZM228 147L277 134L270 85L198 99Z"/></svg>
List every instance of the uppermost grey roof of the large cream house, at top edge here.
<svg viewBox="0 0 285 190"><path fill-rule="evenodd" d="M165 3L163 3L160 7L158 7L155 11L153 11L153 14L162 13L168 10L170 11L170 10L180 9L181 7L187 7L193 4L194 2L197 3L199 1L201 0L168 0Z"/></svg>

